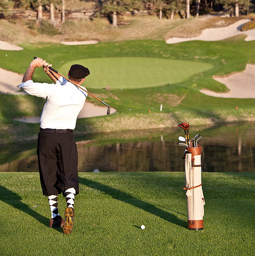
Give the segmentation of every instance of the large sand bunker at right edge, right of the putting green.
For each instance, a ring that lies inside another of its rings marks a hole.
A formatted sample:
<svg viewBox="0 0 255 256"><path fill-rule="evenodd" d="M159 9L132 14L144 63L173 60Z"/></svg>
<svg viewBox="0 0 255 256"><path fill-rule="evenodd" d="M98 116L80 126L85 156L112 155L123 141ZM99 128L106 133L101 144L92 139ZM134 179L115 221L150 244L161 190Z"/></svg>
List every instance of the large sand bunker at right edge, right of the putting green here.
<svg viewBox="0 0 255 256"><path fill-rule="evenodd" d="M255 98L255 65L247 64L242 72L231 73L224 77L213 77L216 81L225 84L230 92L212 92L200 90L200 92L214 97L222 98Z"/></svg>

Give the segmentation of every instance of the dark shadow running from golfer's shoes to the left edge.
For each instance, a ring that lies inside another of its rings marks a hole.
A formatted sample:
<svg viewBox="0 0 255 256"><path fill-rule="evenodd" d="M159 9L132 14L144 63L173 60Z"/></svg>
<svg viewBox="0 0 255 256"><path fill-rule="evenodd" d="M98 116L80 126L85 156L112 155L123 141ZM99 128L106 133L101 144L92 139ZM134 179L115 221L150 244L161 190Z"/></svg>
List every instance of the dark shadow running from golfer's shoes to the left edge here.
<svg viewBox="0 0 255 256"><path fill-rule="evenodd" d="M0 185L0 200L2 202L5 202L6 204L11 205L16 209L27 213L28 215L30 215L31 217L35 218L43 225L48 227L49 219L39 214L38 212L32 210L28 205L21 202L21 199L22 198L18 194ZM58 230L58 228L55 229Z"/></svg>

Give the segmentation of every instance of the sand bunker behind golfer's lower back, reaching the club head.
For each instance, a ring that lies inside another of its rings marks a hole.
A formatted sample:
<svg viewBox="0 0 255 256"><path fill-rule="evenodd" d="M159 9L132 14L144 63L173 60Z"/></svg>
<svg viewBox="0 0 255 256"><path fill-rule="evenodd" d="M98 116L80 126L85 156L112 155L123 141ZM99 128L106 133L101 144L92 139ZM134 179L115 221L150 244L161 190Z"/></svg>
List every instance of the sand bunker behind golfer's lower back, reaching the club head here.
<svg viewBox="0 0 255 256"><path fill-rule="evenodd" d="M106 114L107 107L99 107L95 106L90 102L85 102L84 107L82 108L81 112L79 113L77 118L89 118ZM111 108L111 114L115 113L117 110L115 108ZM39 123L40 117L21 117L15 118L14 120L23 122L23 123Z"/></svg>

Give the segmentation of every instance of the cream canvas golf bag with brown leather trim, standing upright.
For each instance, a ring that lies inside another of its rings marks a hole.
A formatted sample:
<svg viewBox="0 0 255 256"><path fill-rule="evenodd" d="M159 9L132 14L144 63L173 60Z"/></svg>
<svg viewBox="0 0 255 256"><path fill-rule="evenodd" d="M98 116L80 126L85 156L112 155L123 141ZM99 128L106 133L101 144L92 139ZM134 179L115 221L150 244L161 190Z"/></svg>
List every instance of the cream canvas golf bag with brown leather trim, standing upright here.
<svg viewBox="0 0 255 256"><path fill-rule="evenodd" d="M201 146L185 150L185 187L188 205L188 228L204 228L204 195L201 184Z"/></svg>

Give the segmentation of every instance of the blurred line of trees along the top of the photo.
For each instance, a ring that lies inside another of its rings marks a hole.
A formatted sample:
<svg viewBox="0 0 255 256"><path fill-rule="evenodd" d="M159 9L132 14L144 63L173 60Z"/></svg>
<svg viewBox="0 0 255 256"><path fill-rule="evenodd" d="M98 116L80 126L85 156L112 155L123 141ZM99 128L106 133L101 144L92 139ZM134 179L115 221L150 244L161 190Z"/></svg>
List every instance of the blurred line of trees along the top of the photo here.
<svg viewBox="0 0 255 256"><path fill-rule="evenodd" d="M82 0L80 0L82 1ZM198 18L199 14L212 11L223 11L225 15L249 15L254 12L255 0L91 0L97 6L100 15L108 17L112 26L117 27L117 17L127 11L148 10L163 17L173 19L175 14L180 18ZM62 22L65 21L65 0L0 0L0 11L9 8L25 8L38 11L38 20L43 18L43 6L49 6L50 20L54 23L54 9L62 5Z"/></svg>

